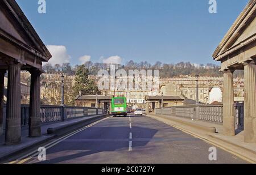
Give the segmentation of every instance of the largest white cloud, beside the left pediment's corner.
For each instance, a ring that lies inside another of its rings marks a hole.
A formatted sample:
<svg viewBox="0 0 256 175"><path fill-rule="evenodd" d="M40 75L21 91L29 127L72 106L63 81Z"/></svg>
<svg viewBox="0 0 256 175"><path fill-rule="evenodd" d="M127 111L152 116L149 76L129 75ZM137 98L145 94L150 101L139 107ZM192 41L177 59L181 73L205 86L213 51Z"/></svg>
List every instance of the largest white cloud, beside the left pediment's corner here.
<svg viewBox="0 0 256 175"><path fill-rule="evenodd" d="M49 59L48 63L52 65L63 63L69 63L71 56L67 53L67 48L63 45L47 45L49 52L52 54L52 58Z"/></svg>

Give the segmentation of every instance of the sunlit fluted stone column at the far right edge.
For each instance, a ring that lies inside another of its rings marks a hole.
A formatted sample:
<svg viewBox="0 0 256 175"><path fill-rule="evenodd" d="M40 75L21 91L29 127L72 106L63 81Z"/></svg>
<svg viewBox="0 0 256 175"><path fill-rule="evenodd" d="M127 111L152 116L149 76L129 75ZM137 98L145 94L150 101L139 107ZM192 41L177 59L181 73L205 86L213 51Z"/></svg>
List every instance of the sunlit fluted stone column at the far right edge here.
<svg viewBox="0 0 256 175"><path fill-rule="evenodd" d="M245 129L247 143L256 143L256 65L254 61L243 64L245 68Z"/></svg>

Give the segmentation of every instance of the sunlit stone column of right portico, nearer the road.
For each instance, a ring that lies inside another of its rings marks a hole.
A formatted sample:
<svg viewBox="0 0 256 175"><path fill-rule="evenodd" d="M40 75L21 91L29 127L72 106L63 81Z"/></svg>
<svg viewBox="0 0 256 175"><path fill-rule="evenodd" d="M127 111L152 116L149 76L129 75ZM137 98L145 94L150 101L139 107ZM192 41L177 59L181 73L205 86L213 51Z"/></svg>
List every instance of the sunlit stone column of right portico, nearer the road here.
<svg viewBox="0 0 256 175"><path fill-rule="evenodd" d="M223 132L224 135L233 136L235 135L233 71L224 70L223 74Z"/></svg>

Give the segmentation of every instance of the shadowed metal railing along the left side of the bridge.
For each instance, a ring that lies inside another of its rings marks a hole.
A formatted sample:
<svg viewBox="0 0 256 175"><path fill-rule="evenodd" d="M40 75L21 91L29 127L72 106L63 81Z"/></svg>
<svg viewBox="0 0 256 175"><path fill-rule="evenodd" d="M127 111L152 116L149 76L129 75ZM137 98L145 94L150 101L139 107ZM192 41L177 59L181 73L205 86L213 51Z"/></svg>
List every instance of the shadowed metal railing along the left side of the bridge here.
<svg viewBox="0 0 256 175"><path fill-rule="evenodd" d="M104 114L105 110L101 108L89 108L79 106L52 106L41 105L40 117L42 123L61 122L67 119L95 116ZM30 114L29 105L21 105L21 125L28 126ZM3 109L3 116L6 116L6 105ZM4 119L5 121L5 119Z"/></svg>

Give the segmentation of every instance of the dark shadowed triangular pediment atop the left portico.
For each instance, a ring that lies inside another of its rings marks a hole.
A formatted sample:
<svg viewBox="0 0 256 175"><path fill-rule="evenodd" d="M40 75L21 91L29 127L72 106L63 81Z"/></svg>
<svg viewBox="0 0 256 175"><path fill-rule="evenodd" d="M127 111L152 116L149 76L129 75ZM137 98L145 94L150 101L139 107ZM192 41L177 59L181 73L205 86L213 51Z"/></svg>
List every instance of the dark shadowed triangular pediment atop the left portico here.
<svg viewBox="0 0 256 175"><path fill-rule="evenodd" d="M0 35L35 53L42 61L51 58L48 49L15 0L0 2Z"/></svg>

